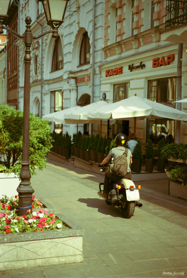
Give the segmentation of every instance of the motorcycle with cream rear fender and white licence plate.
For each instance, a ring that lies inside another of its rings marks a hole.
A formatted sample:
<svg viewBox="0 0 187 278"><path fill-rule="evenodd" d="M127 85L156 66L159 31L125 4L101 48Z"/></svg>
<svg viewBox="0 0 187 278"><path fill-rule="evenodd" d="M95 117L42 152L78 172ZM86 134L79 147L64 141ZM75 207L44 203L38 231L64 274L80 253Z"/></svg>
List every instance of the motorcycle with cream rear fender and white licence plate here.
<svg viewBox="0 0 187 278"><path fill-rule="evenodd" d="M101 168L100 171L105 172L106 166L108 166L108 172L112 172L112 162L103 164L103 168ZM103 184L103 182L99 184L100 192L103 192L103 190L101 189L101 185ZM131 218L134 214L135 207L142 207L142 204L138 202L138 200L140 199L138 189L141 189L141 185L138 185L138 187L136 188L132 180L127 180L124 178L118 180L117 182L110 180L110 192L108 193L108 197L105 202L108 205L121 206L123 216L125 218Z"/></svg>

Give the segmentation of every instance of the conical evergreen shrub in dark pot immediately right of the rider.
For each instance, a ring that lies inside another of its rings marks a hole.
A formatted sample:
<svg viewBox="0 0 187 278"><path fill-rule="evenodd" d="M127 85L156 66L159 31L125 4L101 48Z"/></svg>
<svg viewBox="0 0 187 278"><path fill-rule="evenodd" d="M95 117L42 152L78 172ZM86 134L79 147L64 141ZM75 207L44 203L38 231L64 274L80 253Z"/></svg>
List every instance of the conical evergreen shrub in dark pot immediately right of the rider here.
<svg viewBox="0 0 187 278"><path fill-rule="evenodd" d="M140 173L141 165L142 165L143 155L141 149L140 139L137 139L137 144L134 147L134 151L132 153L132 163L133 163L133 172Z"/></svg>

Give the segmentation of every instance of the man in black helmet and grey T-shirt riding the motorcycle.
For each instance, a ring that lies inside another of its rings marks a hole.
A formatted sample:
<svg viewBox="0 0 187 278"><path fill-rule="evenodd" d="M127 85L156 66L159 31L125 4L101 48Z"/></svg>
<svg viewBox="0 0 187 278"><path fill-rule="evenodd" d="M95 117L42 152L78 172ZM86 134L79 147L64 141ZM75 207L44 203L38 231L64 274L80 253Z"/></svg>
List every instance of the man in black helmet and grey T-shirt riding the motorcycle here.
<svg viewBox="0 0 187 278"><path fill-rule="evenodd" d="M115 145L117 146L116 148L113 148L112 150L109 151L108 156L98 164L98 167L101 167L101 165L107 163L111 157L115 160L118 156L121 156L124 151L125 151L125 144L127 143L127 137L125 134L119 133L115 137ZM103 185L103 192L98 192L98 195L102 197L103 199L107 199L108 193L110 191L110 180L121 180L122 178L131 180L132 179L132 174L131 174L131 169L130 166L132 164L132 153L129 149L127 149L127 174L125 176L121 175L116 175L113 174L112 172L106 172L105 173L105 178L104 178L104 185Z"/></svg>

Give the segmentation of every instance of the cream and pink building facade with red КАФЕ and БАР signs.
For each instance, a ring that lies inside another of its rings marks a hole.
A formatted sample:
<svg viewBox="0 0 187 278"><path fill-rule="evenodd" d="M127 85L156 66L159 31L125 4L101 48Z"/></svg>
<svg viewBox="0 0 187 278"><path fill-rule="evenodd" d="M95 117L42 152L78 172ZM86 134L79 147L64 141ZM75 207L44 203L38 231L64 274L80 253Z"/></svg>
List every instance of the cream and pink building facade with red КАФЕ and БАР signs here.
<svg viewBox="0 0 187 278"><path fill-rule="evenodd" d="M170 1L105 0L104 60L99 65L101 97L116 102L137 95L175 108L172 102L176 99L178 43L161 40L166 2ZM186 58L183 55L183 97L187 89ZM182 110L185 111L185 104ZM116 121L111 133L129 135L133 126L133 119ZM180 141L187 141L184 122L182 127ZM142 142L157 141L161 132L175 137L176 122L167 118L137 121L136 137Z"/></svg>

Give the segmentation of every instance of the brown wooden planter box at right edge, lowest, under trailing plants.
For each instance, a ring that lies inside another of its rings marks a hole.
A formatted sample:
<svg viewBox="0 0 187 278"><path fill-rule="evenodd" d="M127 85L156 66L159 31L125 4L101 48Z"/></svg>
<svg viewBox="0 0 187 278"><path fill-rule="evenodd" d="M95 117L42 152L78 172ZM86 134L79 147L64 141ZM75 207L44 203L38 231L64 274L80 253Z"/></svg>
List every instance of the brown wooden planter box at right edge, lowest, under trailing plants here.
<svg viewBox="0 0 187 278"><path fill-rule="evenodd" d="M169 180L168 191L169 195L187 200L187 187L181 181Z"/></svg>

